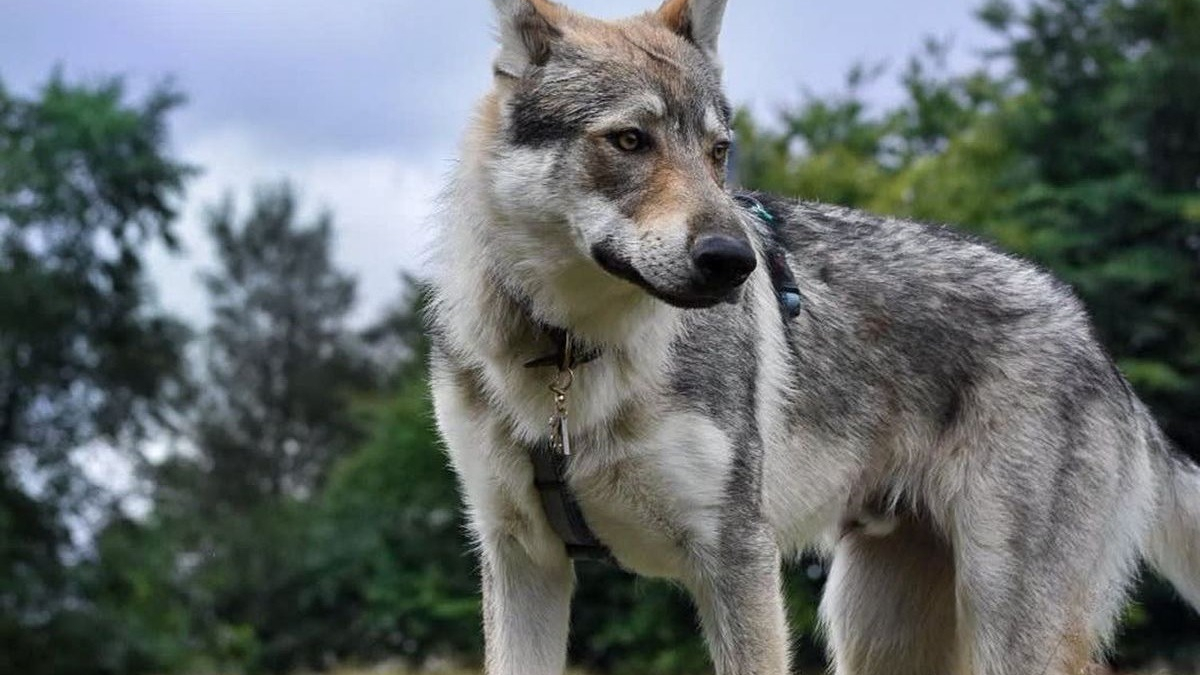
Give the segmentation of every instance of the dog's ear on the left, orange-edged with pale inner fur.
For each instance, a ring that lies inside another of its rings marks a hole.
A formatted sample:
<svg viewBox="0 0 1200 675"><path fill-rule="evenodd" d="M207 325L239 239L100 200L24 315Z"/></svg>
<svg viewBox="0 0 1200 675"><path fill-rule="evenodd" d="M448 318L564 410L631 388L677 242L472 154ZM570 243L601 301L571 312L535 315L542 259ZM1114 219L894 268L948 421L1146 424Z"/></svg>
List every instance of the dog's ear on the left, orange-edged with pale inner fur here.
<svg viewBox="0 0 1200 675"><path fill-rule="evenodd" d="M545 64L563 35L558 24L566 11L551 0L492 0L492 5L500 42L496 72L520 78L530 65Z"/></svg>

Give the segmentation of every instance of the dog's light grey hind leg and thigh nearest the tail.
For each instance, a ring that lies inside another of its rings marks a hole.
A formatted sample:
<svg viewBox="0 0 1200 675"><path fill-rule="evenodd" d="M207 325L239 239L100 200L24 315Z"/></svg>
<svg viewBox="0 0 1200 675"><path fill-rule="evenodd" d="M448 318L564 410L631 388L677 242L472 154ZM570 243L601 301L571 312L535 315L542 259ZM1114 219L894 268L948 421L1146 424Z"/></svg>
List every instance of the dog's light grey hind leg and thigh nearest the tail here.
<svg viewBox="0 0 1200 675"><path fill-rule="evenodd" d="M1146 454L1118 410L1067 410L1066 425L1027 418L978 448L950 512L959 626L979 675L1087 673L1135 572Z"/></svg>

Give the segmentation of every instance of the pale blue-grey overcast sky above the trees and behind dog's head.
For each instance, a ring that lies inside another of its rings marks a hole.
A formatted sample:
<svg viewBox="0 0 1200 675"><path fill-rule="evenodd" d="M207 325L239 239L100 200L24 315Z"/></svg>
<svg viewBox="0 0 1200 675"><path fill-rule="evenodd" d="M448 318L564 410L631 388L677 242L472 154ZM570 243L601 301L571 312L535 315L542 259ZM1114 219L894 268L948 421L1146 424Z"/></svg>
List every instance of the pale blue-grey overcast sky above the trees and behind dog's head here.
<svg viewBox="0 0 1200 675"><path fill-rule="evenodd" d="M575 0L604 17L656 0ZM988 43L968 0L730 0L721 50L734 103L769 113L799 91L829 92L858 61L899 66L926 35L955 60ZM204 168L179 231L182 257L152 256L162 303L205 318L197 270L210 264L200 214L233 190L292 179L330 208L337 259L360 280L359 317L420 271L433 196L493 42L487 0L6 0L0 79L31 92L55 65L70 79L124 74L133 89L172 77L178 154ZM893 68L893 72L895 68ZM870 90L896 96L894 78Z"/></svg>

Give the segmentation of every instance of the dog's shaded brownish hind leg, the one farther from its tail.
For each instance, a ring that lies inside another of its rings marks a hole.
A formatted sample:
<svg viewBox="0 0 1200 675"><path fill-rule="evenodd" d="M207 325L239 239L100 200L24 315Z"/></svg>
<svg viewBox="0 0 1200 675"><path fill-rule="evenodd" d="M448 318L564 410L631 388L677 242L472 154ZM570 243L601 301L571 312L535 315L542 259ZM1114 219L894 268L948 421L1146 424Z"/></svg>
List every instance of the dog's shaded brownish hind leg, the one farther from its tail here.
<svg viewBox="0 0 1200 675"><path fill-rule="evenodd" d="M949 545L925 524L900 518L872 536L838 542L821 601L836 675L967 675L955 635Z"/></svg>

